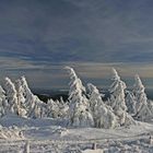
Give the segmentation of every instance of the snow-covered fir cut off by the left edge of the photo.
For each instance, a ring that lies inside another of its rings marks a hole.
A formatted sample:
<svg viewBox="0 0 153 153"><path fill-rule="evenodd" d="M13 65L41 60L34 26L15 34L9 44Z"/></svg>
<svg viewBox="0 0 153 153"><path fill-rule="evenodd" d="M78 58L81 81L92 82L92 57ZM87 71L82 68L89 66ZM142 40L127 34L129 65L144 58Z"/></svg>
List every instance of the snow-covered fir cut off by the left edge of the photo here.
<svg viewBox="0 0 153 153"><path fill-rule="evenodd" d="M0 85L0 117L7 114L8 102L5 99L5 92Z"/></svg>

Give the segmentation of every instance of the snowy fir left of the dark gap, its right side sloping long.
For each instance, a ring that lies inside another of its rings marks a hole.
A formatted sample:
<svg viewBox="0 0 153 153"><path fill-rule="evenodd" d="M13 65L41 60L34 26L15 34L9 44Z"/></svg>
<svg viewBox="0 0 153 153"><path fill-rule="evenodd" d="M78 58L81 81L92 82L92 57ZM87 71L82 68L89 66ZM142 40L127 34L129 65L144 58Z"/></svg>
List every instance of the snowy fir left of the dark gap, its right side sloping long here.
<svg viewBox="0 0 153 153"><path fill-rule="evenodd" d="M24 106L26 108L26 116L31 118L44 117L46 114L47 105L32 93L32 91L27 85L25 76L21 78L21 83L24 89L24 96L25 96Z"/></svg>

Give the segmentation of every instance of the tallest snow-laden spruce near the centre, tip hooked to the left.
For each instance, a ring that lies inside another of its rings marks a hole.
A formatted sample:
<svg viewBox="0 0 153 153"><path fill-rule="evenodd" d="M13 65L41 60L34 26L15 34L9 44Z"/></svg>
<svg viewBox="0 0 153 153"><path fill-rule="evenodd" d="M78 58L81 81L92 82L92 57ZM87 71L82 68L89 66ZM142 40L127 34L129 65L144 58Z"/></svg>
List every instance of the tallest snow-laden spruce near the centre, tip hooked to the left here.
<svg viewBox="0 0 153 153"><path fill-rule="evenodd" d="M85 87L75 74L74 70L66 67L70 74L69 90L69 126L93 127L94 121L85 96Z"/></svg>

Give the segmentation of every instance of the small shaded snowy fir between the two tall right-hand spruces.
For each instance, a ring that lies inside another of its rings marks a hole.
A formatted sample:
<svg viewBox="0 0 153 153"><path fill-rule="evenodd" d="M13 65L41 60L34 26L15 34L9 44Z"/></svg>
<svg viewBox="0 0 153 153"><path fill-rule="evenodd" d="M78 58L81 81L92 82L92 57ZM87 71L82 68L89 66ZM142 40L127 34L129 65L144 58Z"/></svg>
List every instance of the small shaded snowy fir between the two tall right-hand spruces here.
<svg viewBox="0 0 153 153"><path fill-rule="evenodd" d="M126 105L128 107L128 113L136 114L136 97L132 92L126 91Z"/></svg>

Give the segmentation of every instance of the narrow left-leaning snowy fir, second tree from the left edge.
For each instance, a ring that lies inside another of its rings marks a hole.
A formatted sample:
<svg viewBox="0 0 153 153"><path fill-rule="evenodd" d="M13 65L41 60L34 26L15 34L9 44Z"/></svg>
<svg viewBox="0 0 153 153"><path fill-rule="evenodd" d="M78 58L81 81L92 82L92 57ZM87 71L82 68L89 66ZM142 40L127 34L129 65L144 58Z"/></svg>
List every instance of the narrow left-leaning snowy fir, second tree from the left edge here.
<svg viewBox="0 0 153 153"><path fill-rule="evenodd" d="M16 96L16 90L15 85L12 83L12 81L9 78L4 79L4 90L8 101L8 110L9 113L19 115L19 104L17 104L17 96Z"/></svg>

